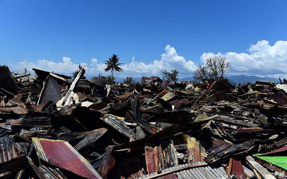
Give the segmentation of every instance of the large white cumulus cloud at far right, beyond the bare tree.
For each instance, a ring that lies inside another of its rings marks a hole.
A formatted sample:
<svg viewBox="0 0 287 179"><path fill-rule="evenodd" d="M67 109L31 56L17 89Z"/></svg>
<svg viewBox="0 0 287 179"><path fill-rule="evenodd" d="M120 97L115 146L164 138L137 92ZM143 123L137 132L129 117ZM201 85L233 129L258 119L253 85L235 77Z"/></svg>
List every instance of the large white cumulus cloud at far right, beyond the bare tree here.
<svg viewBox="0 0 287 179"><path fill-rule="evenodd" d="M204 63L209 57L222 55L232 64L230 75L256 75L280 77L286 75L287 41L277 41L273 46L267 40L251 45L247 53L227 52L217 54L208 52L201 56Z"/></svg>

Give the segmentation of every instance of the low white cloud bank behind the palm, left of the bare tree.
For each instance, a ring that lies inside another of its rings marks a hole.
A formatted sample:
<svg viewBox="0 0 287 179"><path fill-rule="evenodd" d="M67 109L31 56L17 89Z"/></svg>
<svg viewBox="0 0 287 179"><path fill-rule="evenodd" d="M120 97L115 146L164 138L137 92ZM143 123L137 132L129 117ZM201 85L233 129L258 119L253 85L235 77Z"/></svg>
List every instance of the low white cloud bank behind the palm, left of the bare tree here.
<svg viewBox="0 0 287 179"><path fill-rule="evenodd" d="M114 74L118 77L126 76L159 76L161 69L171 70L177 69L179 74L184 76L192 76L196 65L191 60L186 61L184 57L177 54L174 47L167 45L165 47L166 53L161 54L160 60L154 60L151 63L137 62L135 57L132 58L131 63L124 64L121 67L123 72ZM93 76L98 75L99 73L104 74L106 65L104 62L99 62L98 59L92 58L90 64L81 63L82 66L85 66L86 75ZM78 64L73 63L70 58L63 57L62 62L52 62L48 60L37 60L36 62L28 62L24 60L22 62L17 62L16 64L9 63L8 66L11 70L17 70L19 67L27 67L29 71L32 68L42 69L45 71L54 71L55 73L64 73L70 75L72 72L77 70Z"/></svg>

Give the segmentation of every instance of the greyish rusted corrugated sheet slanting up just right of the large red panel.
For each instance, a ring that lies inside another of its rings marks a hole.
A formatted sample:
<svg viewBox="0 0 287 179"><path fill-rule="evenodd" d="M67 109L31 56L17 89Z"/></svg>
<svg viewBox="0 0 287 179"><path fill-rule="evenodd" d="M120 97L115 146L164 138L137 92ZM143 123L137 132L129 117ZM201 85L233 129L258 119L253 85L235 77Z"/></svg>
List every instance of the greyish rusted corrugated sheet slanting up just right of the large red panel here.
<svg viewBox="0 0 287 179"><path fill-rule="evenodd" d="M77 144L75 144L73 147L75 150L82 150L90 145L92 145L96 140L98 140L102 135L104 135L105 132L108 131L108 128L100 128L92 130L88 133L85 133L81 136L78 136L75 138L75 140L79 140ZM71 143L72 141L70 141Z"/></svg>

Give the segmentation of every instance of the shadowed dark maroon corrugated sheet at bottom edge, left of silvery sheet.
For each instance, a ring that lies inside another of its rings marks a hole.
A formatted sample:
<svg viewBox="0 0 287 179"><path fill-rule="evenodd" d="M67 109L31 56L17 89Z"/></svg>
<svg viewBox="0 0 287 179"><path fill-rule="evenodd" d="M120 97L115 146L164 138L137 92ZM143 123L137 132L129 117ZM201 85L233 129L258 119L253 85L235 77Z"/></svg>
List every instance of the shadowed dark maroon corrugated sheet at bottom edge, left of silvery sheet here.
<svg viewBox="0 0 287 179"><path fill-rule="evenodd" d="M144 168L136 156L129 157L119 163L121 177L135 179L146 175Z"/></svg>

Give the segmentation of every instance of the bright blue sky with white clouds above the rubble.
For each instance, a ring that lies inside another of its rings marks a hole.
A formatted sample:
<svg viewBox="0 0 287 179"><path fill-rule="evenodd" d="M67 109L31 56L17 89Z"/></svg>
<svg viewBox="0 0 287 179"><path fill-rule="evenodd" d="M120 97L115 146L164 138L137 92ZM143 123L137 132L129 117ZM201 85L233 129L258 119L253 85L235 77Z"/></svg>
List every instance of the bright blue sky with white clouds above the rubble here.
<svg viewBox="0 0 287 179"><path fill-rule="evenodd" d="M166 67L186 77L204 58L234 52L234 74L279 76L286 67L271 71L270 62L287 62L286 18L287 1L0 0L0 64L69 74L83 63L92 75L115 53L129 71L119 76ZM248 60L238 63L242 58Z"/></svg>

